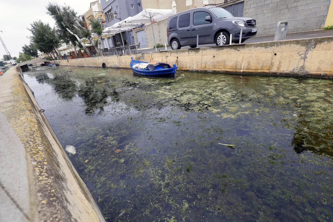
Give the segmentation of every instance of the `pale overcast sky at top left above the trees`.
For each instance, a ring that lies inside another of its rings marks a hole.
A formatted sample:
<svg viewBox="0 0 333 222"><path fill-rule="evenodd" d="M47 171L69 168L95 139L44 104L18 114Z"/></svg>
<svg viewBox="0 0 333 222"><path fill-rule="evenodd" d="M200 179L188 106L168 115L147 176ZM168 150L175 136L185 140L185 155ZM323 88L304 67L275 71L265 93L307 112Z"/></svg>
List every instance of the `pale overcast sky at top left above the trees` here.
<svg viewBox="0 0 333 222"><path fill-rule="evenodd" d="M52 0L58 4L70 5L76 10L78 15L88 11L90 2L94 0ZM47 0L0 0L0 36L4 41L12 57L18 57L22 52L22 46L29 44L28 36L31 35L27 27L35 20L48 22L51 27L54 26L54 20L47 15L45 6ZM7 54L0 44L0 59Z"/></svg>

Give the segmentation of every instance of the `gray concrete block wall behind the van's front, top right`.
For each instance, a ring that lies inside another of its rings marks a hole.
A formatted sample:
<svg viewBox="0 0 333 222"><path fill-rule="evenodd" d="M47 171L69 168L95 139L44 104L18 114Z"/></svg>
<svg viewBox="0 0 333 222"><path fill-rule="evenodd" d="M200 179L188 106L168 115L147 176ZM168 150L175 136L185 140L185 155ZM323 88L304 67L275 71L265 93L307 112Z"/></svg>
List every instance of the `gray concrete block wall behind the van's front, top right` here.
<svg viewBox="0 0 333 222"><path fill-rule="evenodd" d="M324 28L330 0L245 0L244 17L257 21L257 36L274 35L277 22L288 21L289 32Z"/></svg>

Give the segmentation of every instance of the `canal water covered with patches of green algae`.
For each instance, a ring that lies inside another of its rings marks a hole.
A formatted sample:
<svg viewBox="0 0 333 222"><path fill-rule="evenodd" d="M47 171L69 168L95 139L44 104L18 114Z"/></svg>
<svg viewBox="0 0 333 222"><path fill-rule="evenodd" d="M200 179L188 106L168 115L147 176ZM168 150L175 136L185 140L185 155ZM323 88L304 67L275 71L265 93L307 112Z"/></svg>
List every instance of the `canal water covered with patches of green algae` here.
<svg viewBox="0 0 333 222"><path fill-rule="evenodd" d="M333 81L24 74L107 221L332 221Z"/></svg>

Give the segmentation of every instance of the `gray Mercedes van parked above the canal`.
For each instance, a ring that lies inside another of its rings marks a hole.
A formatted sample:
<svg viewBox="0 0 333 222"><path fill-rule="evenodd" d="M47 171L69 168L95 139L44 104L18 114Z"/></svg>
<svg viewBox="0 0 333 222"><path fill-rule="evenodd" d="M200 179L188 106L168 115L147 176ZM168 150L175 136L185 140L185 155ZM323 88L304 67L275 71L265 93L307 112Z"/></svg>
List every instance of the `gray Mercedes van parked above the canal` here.
<svg viewBox="0 0 333 222"><path fill-rule="evenodd" d="M227 45L230 34L231 42L238 42L241 27L242 43L257 34L254 19L234 17L220 7L205 6L171 15L167 21L166 32L169 46L180 49L181 46L195 48L197 35L199 44Z"/></svg>

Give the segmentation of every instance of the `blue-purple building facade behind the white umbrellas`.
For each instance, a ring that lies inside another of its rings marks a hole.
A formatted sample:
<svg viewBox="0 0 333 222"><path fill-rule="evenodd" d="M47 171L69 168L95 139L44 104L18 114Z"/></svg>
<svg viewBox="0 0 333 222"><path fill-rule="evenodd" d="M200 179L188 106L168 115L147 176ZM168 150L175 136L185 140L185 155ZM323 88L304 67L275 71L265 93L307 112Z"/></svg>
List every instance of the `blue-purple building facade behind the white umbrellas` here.
<svg viewBox="0 0 333 222"><path fill-rule="evenodd" d="M101 6L106 17L106 27L110 27L142 11L141 0L101 0ZM115 12L117 17L115 17ZM123 46L122 37L125 44L134 44L132 31L126 31L104 39L104 48Z"/></svg>

